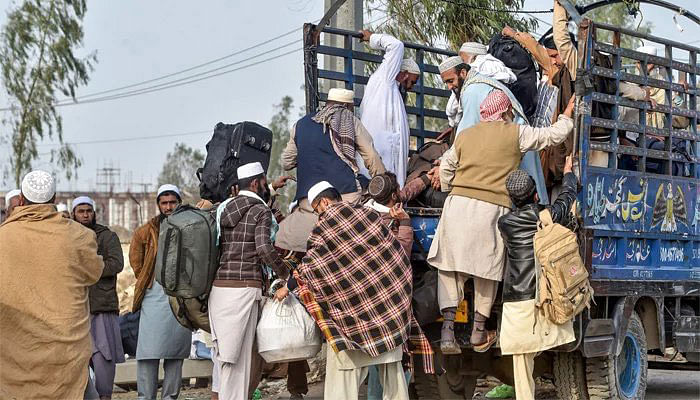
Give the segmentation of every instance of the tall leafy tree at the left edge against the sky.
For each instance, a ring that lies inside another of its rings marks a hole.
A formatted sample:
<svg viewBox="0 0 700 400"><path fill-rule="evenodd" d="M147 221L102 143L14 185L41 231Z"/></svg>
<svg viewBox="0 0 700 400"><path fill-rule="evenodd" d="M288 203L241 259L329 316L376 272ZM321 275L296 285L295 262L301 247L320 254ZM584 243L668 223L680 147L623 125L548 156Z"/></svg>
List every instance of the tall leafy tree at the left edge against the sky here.
<svg viewBox="0 0 700 400"><path fill-rule="evenodd" d="M70 178L80 166L75 151L63 143L63 124L55 108L57 94L75 98L88 82L95 54L76 57L83 43L85 0L26 0L7 14L0 34L0 68L10 111L5 124L12 143L10 164L15 183L39 154L37 141L57 137L51 162Z"/></svg>

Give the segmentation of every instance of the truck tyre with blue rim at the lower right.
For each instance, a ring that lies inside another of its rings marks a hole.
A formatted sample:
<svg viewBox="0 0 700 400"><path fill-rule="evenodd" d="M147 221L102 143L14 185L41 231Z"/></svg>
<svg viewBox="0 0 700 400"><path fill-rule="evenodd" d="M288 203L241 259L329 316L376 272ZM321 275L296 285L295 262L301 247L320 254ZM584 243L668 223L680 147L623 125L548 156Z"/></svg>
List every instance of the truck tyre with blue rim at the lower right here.
<svg viewBox="0 0 700 400"><path fill-rule="evenodd" d="M647 387L647 341L642 321L632 312L620 355L586 359L591 400L644 398Z"/></svg>

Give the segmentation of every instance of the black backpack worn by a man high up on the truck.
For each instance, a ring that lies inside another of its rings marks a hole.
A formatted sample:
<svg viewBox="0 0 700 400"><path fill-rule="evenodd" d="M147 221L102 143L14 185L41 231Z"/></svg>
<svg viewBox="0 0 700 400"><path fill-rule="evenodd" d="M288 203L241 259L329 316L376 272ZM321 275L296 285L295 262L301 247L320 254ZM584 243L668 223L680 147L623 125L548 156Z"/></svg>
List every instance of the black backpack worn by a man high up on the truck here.
<svg viewBox="0 0 700 400"><path fill-rule="evenodd" d="M530 53L515 39L500 33L491 38L489 53L503 61L518 80L506 85L523 107L528 120L537 110L537 72Z"/></svg>

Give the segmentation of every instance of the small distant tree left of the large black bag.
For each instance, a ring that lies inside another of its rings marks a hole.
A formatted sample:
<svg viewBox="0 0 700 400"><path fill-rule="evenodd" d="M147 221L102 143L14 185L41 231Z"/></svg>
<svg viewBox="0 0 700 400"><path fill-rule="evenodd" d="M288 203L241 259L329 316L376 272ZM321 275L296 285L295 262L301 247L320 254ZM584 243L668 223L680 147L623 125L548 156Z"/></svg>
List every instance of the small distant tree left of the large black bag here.
<svg viewBox="0 0 700 400"><path fill-rule="evenodd" d="M184 143L165 156L163 169L158 175L158 185L173 184L180 189L183 203L194 204L199 199L197 169L204 165L204 154Z"/></svg>

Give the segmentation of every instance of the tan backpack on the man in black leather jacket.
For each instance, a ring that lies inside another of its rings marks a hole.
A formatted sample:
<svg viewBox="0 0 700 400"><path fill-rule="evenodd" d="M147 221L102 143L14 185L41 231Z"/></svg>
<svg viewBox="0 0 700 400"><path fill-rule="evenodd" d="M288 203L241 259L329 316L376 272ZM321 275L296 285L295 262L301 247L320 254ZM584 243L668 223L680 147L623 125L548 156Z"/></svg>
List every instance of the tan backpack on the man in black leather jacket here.
<svg viewBox="0 0 700 400"><path fill-rule="evenodd" d="M534 238L539 263L537 308L555 324L571 321L590 306L593 288L578 250L576 234L540 212Z"/></svg>

